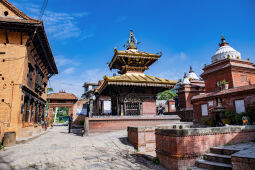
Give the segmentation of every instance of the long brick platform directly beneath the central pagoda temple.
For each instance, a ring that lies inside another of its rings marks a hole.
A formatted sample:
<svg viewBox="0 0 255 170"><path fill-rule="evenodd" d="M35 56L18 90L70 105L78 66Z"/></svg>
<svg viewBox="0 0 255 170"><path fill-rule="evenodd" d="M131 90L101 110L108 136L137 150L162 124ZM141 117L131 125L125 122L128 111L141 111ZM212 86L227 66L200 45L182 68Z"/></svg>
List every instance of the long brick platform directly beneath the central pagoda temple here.
<svg viewBox="0 0 255 170"><path fill-rule="evenodd" d="M124 130L128 126L153 126L180 122L177 115L169 116L100 116L89 118L90 132Z"/></svg>

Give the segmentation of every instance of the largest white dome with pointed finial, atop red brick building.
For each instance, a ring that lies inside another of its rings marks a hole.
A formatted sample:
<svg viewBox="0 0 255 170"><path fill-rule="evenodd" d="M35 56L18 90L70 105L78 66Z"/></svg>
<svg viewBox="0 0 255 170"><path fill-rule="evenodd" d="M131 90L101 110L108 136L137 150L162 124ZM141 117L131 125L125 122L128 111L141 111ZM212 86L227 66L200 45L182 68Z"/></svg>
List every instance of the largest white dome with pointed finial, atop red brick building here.
<svg viewBox="0 0 255 170"><path fill-rule="evenodd" d="M220 48L212 56L212 63L226 58L241 59L241 53L230 47L228 43L225 42L225 39L222 40L224 41L220 44Z"/></svg>

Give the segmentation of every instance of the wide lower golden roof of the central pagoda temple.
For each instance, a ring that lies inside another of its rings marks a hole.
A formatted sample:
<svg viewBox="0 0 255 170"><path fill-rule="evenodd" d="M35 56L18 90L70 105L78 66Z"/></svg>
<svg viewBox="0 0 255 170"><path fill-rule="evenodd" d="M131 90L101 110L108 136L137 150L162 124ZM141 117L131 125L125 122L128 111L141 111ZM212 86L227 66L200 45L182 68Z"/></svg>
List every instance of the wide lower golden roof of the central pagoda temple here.
<svg viewBox="0 0 255 170"><path fill-rule="evenodd" d="M101 93L107 85L143 86L143 87L173 87L176 81L149 76L143 73L126 73L114 77L104 76L104 81L96 88Z"/></svg>

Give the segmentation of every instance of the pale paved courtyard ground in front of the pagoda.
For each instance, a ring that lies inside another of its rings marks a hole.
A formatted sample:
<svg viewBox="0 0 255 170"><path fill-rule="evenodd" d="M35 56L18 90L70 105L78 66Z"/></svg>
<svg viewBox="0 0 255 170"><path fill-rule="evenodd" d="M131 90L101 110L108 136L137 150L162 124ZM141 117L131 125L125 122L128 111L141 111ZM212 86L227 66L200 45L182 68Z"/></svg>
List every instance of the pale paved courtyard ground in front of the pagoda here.
<svg viewBox="0 0 255 170"><path fill-rule="evenodd" d="M163 169L139 156L119 131L81 137L67 126L0 151L0 169Z"/></svg>

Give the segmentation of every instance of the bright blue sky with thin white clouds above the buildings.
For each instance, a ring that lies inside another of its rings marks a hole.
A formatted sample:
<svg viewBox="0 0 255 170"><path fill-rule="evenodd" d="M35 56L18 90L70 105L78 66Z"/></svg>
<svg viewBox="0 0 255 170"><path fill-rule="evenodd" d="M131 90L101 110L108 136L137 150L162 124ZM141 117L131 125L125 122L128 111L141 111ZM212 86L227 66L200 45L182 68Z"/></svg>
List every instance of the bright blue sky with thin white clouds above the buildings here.
<svg viewBox="0 0 255 170"><path fill-rule="evenodd" d="M38 18L42 0L10 0ZM140 51L162 57L146 74L177 80L193 66L200 75L211 63L221 34L255 62L254 0L49 0L43 20L59 74L50 79L58 92L78 97L85 81L112 76L107 62L133 29Z"/></svg>

